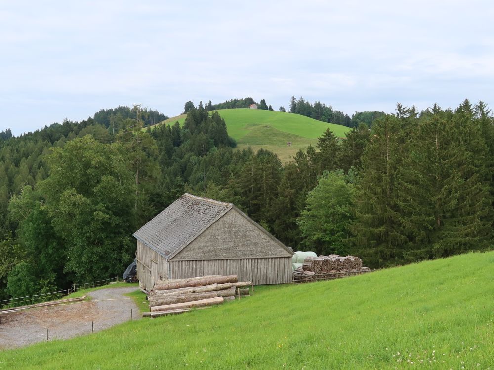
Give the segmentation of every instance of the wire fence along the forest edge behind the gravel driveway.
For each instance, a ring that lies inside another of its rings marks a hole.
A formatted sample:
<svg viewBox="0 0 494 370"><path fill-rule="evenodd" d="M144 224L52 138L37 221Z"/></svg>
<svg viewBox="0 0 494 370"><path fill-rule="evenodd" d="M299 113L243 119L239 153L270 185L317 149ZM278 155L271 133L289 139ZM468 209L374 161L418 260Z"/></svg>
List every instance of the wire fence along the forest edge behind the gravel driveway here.
<svg viewBox="0 0 494 370"><path fill-rule="evenodd" d="M124 279L122 278L122 276L116 276L114 278L91 281L88 283L74 283L70 288L62 289L56 292L40 293L31 296L15 297L10 299L0 300L0 309L14 308L14 307L19 307L29 304L47 302L50 300L62 299L64 296L68 296L69 294L77 292L82 289L96 288L113 282L118 283L123 281Z"/></svg>

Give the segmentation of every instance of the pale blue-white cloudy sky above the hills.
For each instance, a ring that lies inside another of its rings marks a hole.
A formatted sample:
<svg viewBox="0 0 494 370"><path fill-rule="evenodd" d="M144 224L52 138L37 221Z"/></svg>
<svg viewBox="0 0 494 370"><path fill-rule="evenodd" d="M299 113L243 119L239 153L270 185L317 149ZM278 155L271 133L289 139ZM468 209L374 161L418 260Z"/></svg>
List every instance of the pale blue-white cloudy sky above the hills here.
<svg viewBox="0 0 494 370"><path fill-rule="evenodd" d="M138 3L139 2L139 3ZM292 95L351 115L494 108L492 1L0 0L0 131Z"/></svg>

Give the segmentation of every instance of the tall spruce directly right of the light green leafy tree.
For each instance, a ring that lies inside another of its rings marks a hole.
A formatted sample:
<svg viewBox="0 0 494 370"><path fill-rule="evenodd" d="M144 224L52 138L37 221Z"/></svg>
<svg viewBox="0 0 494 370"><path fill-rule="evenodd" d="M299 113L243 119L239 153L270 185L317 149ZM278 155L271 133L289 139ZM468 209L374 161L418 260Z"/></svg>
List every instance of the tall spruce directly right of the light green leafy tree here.
<svg viewBox="0 0 494 370"><path fill-rule="evenodd" d="M401 135L395 116L376 121L357 178L352 244L354 253L372 267L401 262L408 242L401 228L395 187Z"/></svg>

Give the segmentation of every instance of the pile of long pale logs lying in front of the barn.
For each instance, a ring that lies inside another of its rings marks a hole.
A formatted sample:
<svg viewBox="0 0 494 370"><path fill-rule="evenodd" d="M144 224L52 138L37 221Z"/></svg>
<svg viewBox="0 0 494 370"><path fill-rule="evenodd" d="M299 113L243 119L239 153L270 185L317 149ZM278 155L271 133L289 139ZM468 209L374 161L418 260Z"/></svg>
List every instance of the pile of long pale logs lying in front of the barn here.
<svg viewBox="0 0 494 370"><path fill-rule="evenodd" d="M190 311L250 295L250 281L238 282L237 275L208 275L188 279L159 280L149 293L150 312L142 316L156 317Z"/></svg>

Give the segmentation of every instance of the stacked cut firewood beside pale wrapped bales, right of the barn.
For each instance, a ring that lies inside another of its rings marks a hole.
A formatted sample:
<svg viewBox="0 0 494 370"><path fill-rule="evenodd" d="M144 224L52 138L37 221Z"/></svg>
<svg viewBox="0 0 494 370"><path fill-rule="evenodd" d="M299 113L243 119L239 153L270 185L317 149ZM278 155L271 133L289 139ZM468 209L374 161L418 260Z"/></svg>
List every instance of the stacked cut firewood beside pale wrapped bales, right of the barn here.
<svg viewBox="0 0 494 370"><path fill-rule="evenodd" d="M295 279L311 279L316 275L335 274L345 276L349 273L370 271L369 267L362 266L362 259L355 256L342 257L339 255L307 257L301 267L293 271Z"/></svg>

